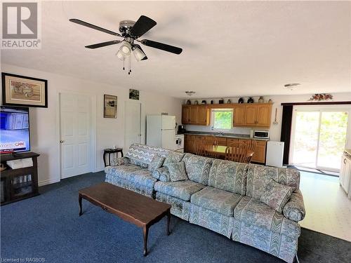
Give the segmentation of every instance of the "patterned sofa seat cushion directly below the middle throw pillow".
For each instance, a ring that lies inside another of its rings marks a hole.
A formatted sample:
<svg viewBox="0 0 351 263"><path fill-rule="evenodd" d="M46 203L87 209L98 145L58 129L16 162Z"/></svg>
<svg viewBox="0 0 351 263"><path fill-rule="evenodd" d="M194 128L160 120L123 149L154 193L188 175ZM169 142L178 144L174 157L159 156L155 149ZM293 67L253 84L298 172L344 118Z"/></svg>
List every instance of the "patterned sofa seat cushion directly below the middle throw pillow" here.
<svg viewBox="0 0 351 263"><path fill-rule="evenodd" d="M156 182L154 189L162 194L180 198L184 201L190 201L192 194L200 191L205 186L192 182L190 180L177 182Z"/></svg>

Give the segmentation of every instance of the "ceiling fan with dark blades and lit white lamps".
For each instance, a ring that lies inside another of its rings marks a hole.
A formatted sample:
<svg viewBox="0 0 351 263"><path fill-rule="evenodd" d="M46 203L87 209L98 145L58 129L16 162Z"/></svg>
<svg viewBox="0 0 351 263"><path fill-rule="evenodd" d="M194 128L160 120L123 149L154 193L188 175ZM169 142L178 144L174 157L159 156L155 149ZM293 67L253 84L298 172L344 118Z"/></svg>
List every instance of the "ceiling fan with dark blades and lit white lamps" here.
<svg viewBox="0 0 351 263"><path fill-rule="evenodd" d="M112 41L95 43L93 45L88 45L85 47L102 48L103 46L110 46L117 43L121 43L121 46L116 55L117 55L117 58L123 61L126 60L126 58L129 59L128 74L131 74L131 53L134 54L135 59L138 61L147 60L147 56L144 53L143 49L140 47L140 45L138 45L138 43L135 43L135 41L142 43L145 46L158 48L158 49L171 52L174 54L178 54L178 55L183 51L182 48L177 48L176 46L170 46L165 43L159 43L148 39L139 40L140 36L143 36L143 34L148 32L150 29L152 29L152 27L154 27L157 24L154 20L152 20L151 18L147 18L147 16L145 15L141 15L138 21L136 22L131 20L123 20L119 22L120 34L117 32L113 32L109 29L98 27L97 25L92 25L88 22L84 22L79 19L72 18L72 19L69 19L69 21L77 23L79 25L84 25L85 27L90 27L92 29L95 29L101 32L105 32L107 34L112 34L113 36L119 36L124 38L122 40L115 39Z"/></svg>

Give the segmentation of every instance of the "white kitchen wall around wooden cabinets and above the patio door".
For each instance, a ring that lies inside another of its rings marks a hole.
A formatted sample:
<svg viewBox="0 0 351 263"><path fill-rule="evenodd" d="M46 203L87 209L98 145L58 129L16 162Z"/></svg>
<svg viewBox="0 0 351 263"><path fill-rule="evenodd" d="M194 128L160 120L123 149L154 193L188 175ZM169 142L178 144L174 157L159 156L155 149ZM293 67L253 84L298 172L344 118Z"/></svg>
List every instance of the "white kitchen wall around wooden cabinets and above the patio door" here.
<svg viewBox="0 0 351 263"><path fill-rule="evenodd" d="M333 94L333 101L334 102L340 102L340 101L351 101L351 92L350 93L332 93ZM270 140L274 141L280 141L280 133L282 130L282 110L283 107L281 105L282 102L307 102L309 100L311 95L277 95L277 96L265 96L263 97L265 101L272 99L273 105L272 105L272 123L270 126ZM259 97L253 97L253 100L255 102L258 102ZM198 102L201 103L202 99L192 99L192 104L194 103L194 100L197 100ZM227 102L228 98L225 98L225 102ZM239 100L239 97L230 97L230 100L232 103L237 103ZM206 99L207 103L211 102L211 99ZM214 103L218 103L218 99L213 100ZM244 102L247 101L247 97L244 97ZM185 103L185 101L183 101ZM351 107L351 105L350 105ZM274 116L275 116L275 109L277 109L277 121L278 124L274 125ZM351 121L351 116L350 116L350 121ZM185 126L187 130L197 130L197 131L211 131L211 126L192 126L192 125L187 125ZM251 128L241 128L241 127L235 127L232 130L230 130L230 133L238 133L238 134L250 134ZM260 128L256 129L260 130ZM350 136L350 135L349 135ZM350 139L351 141L351 139Z"/></svg>

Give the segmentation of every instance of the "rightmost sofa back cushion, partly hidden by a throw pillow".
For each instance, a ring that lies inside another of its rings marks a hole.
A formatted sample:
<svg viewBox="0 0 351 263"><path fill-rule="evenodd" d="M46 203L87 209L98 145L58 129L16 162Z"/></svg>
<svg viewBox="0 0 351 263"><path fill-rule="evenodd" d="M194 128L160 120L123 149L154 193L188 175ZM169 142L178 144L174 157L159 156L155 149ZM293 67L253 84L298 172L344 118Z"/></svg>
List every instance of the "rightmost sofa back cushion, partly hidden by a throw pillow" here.
<svg viewBox="0 0 351 263"><path fill-rule="evenodd" d="M298 189L300 172L291 168L277 168L249 164L246 180L246 196L260 200L270 180Z"/></svg>

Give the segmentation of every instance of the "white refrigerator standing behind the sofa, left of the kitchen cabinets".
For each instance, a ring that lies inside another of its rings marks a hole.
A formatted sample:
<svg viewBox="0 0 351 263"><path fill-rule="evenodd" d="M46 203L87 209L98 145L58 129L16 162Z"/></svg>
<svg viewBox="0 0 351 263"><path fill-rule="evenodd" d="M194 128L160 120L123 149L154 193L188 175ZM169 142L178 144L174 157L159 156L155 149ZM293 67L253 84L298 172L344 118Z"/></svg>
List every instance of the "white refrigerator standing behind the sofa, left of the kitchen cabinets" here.
<svg viewBox="0 0 351 263"><path fill-rule="evenodd" d="M176 116L147 115L146 144L164 149L176 149Z"/></svg>

